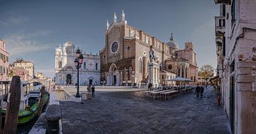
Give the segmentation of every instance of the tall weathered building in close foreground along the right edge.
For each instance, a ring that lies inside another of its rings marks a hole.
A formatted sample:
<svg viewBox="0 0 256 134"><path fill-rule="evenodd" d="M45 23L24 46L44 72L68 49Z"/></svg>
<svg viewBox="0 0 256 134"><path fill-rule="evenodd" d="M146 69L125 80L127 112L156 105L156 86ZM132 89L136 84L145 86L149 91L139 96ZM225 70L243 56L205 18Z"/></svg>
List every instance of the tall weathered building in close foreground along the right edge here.
<svg viewBox="0 0 256 134"><path fill-rule="evenodd" d="M256 1L215 0L218 75L233 133L256 132ZM220 54L220 55L218 55Z"/></svg>

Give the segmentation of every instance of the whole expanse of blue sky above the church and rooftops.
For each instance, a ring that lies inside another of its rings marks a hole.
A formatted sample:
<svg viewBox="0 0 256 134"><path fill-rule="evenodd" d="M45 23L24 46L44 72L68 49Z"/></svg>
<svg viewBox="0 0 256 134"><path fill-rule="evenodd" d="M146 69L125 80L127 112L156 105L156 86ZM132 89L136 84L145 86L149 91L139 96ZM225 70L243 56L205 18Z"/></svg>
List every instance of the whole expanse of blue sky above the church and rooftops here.
<svg viewBox="0 0 256 134"><path fill-rule="evenodd" d="M163 42L171 32L179 48L191 41L198 67L215 68L213 0L0 0L0 38L6 40L10 61L33 60L36 71L54 76L54 52L72 40L85 52L96 53L105 45L105 23L117 21L124 9L130 26L144 30Z"/></svg>

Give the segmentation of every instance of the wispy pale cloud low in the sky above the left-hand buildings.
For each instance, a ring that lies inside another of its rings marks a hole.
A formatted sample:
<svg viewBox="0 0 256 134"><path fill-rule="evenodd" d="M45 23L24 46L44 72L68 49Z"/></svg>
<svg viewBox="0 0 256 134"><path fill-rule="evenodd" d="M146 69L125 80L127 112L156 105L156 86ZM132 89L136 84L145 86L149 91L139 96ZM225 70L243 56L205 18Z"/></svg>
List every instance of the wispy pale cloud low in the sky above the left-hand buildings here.
<svg viewBox="0 0 256 134"><path fill-rule="evenodd" d="M50 30L40 30L34 33L19 32L6 37L7 49L11 56L19 56L46 50L49 44L38 41L38 38L50 35Z"/></svg>

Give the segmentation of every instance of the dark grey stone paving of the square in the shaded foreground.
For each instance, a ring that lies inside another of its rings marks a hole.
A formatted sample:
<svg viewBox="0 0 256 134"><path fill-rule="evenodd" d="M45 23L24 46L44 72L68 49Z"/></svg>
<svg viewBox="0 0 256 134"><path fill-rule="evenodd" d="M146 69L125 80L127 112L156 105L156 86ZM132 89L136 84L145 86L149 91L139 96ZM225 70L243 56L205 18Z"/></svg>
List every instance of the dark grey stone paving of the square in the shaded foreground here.
<svg viewBox="0 0 256 134"><path fill-rule="evenodd" d="M63 133L230 133L212 87L202 99L191 92L171 101L151 100L141 92L96 89L92 101L61 101Z"/></svg>

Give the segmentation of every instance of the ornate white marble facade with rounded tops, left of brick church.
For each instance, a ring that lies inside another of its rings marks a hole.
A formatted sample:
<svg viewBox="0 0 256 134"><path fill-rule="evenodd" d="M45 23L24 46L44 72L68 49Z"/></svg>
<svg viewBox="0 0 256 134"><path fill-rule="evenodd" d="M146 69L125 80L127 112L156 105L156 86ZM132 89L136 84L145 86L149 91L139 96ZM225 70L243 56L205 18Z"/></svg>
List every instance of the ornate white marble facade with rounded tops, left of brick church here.
<svg viewBox="0 0 256 134"><path fill-rule="evenodd" d="M78 82L78 69L75 67L75 52L78 48L68 41L63 46L55 48L55 83L60 85L75 85ZM100 84L100 56L86 54L79 69L80 85Z"/></svg>

